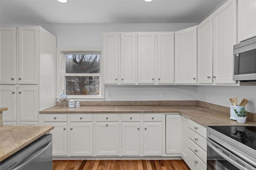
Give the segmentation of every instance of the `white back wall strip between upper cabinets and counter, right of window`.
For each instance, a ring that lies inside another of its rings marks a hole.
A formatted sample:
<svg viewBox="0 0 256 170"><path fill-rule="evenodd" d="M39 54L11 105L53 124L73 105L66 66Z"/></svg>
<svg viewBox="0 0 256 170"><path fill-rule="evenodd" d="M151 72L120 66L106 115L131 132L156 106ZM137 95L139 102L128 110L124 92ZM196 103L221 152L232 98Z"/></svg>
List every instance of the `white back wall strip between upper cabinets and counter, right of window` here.
<svg viewBox="0 0 256 170"><path fill-rule="evenodd" d="M105 101L197 100L197 90L196 85L106 85Z"/></svg>

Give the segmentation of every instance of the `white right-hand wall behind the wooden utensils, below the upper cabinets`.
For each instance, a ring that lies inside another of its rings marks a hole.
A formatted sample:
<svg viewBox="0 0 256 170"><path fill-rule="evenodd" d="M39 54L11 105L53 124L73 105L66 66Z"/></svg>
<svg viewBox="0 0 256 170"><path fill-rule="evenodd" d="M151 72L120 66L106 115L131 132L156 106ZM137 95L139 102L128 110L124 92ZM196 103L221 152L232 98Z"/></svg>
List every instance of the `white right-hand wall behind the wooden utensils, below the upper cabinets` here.
<svg viewBox="0 0 256 170"><path fill-rule="evenodd" d="M208 93L208 100L205 93ZM198 86L199 101L230 107L230 97L248 99L246 110L256 112L256 86Z"/></svg>

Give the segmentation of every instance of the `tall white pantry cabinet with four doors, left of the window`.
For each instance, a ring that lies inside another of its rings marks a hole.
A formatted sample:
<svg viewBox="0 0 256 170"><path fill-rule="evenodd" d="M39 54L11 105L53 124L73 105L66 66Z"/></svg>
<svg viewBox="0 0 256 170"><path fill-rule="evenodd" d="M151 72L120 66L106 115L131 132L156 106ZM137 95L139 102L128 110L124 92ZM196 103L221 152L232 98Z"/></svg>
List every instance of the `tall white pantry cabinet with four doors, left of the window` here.
<svg viewBox="0 0 256 170"><path fill-rule="evenodd" d="M38 125L55 105L56 37L40 26L0 28L0 107L4 125Z"/></svg>

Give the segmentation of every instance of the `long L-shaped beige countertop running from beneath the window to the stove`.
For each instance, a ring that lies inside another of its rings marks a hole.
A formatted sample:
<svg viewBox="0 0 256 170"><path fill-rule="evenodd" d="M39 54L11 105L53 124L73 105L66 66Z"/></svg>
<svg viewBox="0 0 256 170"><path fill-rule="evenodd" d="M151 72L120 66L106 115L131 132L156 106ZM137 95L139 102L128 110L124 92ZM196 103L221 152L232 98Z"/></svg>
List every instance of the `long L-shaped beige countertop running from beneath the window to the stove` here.
<svg viewBox="0 0 256 170"><path fill-rule="evenodd" d="M230 120L230 115L207 109L198 105L179 106L80 106L68 108L55 106L40 111L40 113L180 113L181 115L203 125L226 125L243 126L256 125L256 123L246 121L245 124Z"/></svg>

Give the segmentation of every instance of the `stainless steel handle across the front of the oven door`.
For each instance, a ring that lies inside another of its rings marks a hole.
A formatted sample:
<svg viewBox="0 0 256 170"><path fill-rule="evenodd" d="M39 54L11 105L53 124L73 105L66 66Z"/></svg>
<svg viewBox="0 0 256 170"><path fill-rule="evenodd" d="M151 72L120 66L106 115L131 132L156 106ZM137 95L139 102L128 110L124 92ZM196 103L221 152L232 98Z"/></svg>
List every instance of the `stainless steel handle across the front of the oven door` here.
<svg viewBox="0 0 256 170"><path fill-rule="evenodd" d="M240 168L240 170L255 169L255 167L251 166L247 162L244 162L244 160L241 160L240 158L238 158L237 156L232 154L230 151L224 149L222 146L220 146L216 142L208 139L208 140L206 140L206 143L208 146L210 146L210 148L212 148L215 152L217 152L220 156L222 156L222 158L225 158L228 162L230 162L231 164L234 164L236 167ZM220 151L218 148L222 151ZM233 159L230 157L232 157Z"/></svg>

